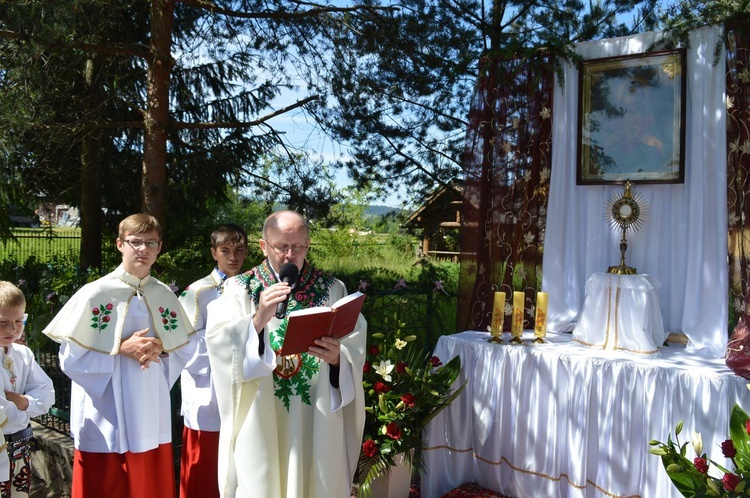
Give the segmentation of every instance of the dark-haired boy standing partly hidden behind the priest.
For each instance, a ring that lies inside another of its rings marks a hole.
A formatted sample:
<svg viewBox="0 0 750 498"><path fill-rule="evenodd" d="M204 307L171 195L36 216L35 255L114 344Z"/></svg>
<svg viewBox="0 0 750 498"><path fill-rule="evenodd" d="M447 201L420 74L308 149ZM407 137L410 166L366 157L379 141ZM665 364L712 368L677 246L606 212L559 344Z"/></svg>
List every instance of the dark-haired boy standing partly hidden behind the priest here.
<svg viewBox="0 0 750 498"><path fill-rule="evenodd" d="M182 458L180 498L219 498L217 466L219 456L219 407L211 379L206 350L206 307L219 297L224 281L242 271L247 256L247 234L233 223L211 233L211 256L216 268L210 275L190 284L180 296L195 327L198 347L180 377L182 387Z"/></svg>

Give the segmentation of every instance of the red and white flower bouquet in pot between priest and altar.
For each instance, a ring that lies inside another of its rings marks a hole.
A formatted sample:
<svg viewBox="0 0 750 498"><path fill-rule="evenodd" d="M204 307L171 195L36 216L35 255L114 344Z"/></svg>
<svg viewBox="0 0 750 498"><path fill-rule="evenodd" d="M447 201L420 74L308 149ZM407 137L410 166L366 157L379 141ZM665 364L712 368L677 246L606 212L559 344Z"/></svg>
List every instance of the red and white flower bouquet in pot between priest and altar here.
<svg viewBox="0 0 750 498"><path fill-rule="evenodd" d="M461 371L459 357L443 365L402 327L394 316L384 320L383 332L370 334L363 368L365 432L354 476L360 496L369 496L373 480L388 474L397 455L421 468L422 429L464 387L451 391Z"/></svg>

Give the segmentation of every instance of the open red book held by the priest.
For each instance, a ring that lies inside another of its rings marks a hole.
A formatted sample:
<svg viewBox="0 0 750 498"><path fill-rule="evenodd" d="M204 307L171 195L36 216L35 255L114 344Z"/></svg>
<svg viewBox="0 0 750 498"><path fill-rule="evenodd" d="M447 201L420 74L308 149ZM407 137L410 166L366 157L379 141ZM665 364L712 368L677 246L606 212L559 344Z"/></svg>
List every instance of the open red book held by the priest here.
<svg viewBox="0 0 750 498"><path fill-rule="evenodd" d="M289 313L281 355L306 353L315 339L330 335L341 339L357 325L365 295L354 292L331 306L315 306Z"/></svg>

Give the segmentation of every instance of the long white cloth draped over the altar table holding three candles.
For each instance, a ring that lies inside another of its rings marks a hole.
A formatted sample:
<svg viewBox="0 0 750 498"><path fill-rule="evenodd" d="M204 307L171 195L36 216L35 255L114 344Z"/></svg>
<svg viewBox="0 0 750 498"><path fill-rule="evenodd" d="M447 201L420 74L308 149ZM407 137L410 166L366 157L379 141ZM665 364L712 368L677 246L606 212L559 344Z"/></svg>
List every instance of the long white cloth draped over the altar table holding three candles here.
<svg viewBox="0 0 750 498"><path fill-rule="evenodd" d="M659 356L597 351L571 334L540 346L487 338L438 341L435 355L459 355L457 384L468 382L424 432L423 497L473 481L513 498L678 498L648 442L666 441L680 420L681 442L700 432L709 458L732 468L720 445L735 402L750 409L750 391L723 359L679 346Z"/></svg>

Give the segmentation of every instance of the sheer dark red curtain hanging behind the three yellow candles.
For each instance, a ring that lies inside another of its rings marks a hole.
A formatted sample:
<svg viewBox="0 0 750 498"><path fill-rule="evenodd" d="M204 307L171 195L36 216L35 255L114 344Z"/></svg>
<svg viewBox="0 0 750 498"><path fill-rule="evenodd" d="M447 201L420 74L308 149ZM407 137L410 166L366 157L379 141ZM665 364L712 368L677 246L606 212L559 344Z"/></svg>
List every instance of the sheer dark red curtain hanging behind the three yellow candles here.
<svg viewBox="0 0 750 498"><path fill-rule="evenodd" d="M533 328L552 159L550 58L484 58L469 111L458 290L458 330L485 330L495 291L525 294ZM510 317L504 326L510 329Z"/></svg>

